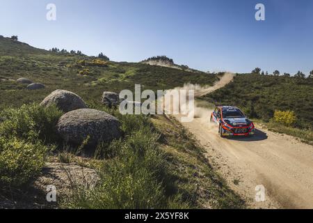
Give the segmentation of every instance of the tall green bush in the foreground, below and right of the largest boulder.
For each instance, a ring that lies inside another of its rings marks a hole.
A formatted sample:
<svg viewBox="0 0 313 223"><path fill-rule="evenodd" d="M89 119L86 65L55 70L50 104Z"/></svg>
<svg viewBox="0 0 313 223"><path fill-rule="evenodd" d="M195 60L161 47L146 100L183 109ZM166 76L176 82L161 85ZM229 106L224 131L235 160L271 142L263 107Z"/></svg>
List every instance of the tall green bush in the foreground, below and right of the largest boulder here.
<svg viewBox="0 0 313 223"><path fill-rule="evenodd" d="M163 188L165 160L157 135L137 132L112 144L118 157L104 162L99 183L90 190L77 188L66 204L71 208L166 208Z"/></svg>

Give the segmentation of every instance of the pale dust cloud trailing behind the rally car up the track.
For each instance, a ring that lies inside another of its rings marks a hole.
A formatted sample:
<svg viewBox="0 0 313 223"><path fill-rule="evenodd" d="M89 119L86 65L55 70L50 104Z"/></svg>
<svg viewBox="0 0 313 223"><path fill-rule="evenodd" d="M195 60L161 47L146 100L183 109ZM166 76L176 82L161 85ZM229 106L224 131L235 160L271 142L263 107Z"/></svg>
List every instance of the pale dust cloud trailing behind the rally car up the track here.
<svg viewBox="0 0 313 223"><path fill-rule="evenodd" d="M182 116L187 116L192 114L193 118L200 118L201 121L207 123L209 120L209 116L212 112L212 109L200 107L198 102L194 101L194 98L188 98L188 100L184 100L184 97L188 96L188 91L193 91L194 96L200 97L202 95L207 95L217 89L222 88L226 84L232 82L235 74L231 72L225 72L225 74L220 77L218 82L216 82L213 86L200 86L200 84L184 84L183 87L177 87L172 90L166 91L165 100L165 112L166 114L174 114L177 118L182 118ZM186 97L185 97L186 98ZM189 103L191 101L191 103ZM192 106L190 106L192 105Z"/></svg>

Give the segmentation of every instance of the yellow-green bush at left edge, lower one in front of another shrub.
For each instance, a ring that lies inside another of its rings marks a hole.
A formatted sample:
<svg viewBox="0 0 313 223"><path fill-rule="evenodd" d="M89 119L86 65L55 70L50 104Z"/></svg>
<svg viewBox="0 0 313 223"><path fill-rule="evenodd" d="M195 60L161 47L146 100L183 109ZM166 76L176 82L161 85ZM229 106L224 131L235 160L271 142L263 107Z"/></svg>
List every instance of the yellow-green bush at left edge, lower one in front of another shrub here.
<svg viewBox="0 0 313 223"><path fill-rule="evenodd" d="M15 137L0 139L0 184L19 187L40 174L48 147Z"/></svg>

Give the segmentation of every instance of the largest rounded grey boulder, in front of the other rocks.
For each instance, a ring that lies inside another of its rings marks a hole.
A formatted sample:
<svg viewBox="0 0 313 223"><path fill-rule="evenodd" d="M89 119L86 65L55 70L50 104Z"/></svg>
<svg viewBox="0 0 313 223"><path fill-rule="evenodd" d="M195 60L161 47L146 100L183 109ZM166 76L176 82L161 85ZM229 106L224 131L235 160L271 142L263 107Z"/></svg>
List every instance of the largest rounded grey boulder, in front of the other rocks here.
<svg viewBox="0 0 313 223"><path fill-rule="evenodd" d="M121 136L118 118L95 109L67 112L56 127L65 141L74 144L81 144L88 136L88 145L110 142Z"/></svg>

